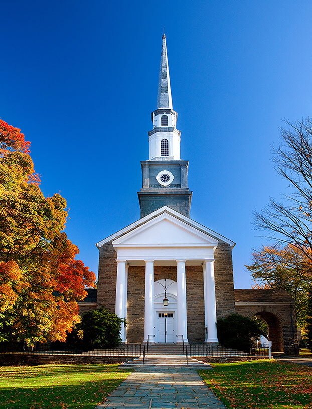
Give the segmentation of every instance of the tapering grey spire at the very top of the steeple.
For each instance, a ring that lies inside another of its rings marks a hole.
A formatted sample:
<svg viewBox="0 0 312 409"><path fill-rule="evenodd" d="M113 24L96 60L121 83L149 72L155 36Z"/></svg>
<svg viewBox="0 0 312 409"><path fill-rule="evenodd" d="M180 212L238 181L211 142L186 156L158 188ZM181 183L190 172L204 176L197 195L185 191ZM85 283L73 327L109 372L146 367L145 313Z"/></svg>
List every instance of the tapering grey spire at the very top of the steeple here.
<svg viewBox="0 0 312 409"><path fill-rule="evenodd" d="M157 91L157 108L171 108L171 89L169 78L169 67L167 57L166 36L162 37L162 56L159 70L158 91Z"/></svg>

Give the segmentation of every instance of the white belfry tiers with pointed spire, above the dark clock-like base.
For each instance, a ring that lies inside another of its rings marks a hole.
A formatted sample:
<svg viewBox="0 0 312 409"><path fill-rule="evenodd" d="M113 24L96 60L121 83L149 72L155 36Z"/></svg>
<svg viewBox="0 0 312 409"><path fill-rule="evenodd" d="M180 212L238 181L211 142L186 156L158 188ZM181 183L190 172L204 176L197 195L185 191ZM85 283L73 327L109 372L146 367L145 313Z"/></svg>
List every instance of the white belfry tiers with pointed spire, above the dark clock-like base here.
<svg viewBox="0 0 312 409"><path fill-rule="evenodd" d="M180 134L176 129L178 114L173 110L166 36L162 37L162 55L158 81L157 108L151 113L149 160L180 160Z"/></svg>

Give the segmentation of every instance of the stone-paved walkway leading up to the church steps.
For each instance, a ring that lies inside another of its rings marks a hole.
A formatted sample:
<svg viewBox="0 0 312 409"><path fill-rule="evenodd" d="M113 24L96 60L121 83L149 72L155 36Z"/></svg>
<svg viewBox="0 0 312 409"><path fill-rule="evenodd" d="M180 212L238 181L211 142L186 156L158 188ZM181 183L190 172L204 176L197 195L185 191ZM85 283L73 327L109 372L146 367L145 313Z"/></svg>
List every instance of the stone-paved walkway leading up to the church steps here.
<svg viewBox="0 0 312 409"><path fill-rule="evenodd" d="M195 369L136 367L97 409L225 409Z"/></svg>

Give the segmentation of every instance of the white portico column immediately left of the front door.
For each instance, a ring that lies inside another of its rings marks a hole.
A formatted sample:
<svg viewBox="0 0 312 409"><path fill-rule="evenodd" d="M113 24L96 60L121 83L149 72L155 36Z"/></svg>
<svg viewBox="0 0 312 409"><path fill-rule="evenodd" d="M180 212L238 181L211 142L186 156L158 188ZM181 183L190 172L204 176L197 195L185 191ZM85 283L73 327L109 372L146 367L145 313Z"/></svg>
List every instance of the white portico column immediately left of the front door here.
<svg viewBox="0 0 312 409"><path fill-rule="evenodd" d="M145 260L144 341L154 342L154 260Z"/></svg>

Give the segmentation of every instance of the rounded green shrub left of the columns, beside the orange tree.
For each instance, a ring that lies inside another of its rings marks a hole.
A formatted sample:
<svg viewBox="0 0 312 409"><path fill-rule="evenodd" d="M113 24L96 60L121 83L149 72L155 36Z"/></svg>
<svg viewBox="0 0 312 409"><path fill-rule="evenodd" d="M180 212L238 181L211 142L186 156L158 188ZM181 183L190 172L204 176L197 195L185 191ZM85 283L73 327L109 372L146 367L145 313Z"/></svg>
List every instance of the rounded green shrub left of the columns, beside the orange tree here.
<svg viewBox="0 0 312 409"><path fill-rule="evenodd" d="M124 323L125 319L104 307L84 313L81 322L77 324L77 329L83 331L83 347L91 349L117 346L121 342L120 329Z"/></svg>

